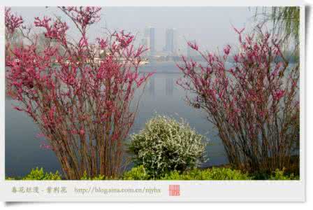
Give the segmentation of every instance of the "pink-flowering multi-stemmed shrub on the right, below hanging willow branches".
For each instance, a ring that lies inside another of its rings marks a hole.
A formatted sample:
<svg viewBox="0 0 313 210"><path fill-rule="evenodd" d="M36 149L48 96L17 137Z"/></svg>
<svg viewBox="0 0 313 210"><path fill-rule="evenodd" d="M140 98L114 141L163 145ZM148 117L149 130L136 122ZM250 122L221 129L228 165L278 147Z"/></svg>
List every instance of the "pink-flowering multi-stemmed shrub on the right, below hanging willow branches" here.
<svg viewBox="0 0 313 210"><path fill-rule="evenodd" d="M239 49L226 45L221 55L189 42L205 64L182 57L177 83L217 127L231 165L252 172L289 167L299 143L299 64L261 28L251 36L235 31Z"/></svg>

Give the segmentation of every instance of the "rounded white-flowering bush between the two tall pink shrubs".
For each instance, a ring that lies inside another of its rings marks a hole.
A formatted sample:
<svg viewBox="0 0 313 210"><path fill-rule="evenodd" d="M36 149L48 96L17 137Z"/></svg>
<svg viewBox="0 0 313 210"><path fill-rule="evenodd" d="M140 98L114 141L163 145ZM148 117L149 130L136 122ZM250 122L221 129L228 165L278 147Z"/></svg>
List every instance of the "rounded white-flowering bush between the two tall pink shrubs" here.
<svg viewBox="0 0 313 210"><path fill-rule="evenodd" d="M205 160L206 142L187 123L157 116L131 136L129 151L135 165L143 165L152 178L171 171L194 169Z"/></svg>

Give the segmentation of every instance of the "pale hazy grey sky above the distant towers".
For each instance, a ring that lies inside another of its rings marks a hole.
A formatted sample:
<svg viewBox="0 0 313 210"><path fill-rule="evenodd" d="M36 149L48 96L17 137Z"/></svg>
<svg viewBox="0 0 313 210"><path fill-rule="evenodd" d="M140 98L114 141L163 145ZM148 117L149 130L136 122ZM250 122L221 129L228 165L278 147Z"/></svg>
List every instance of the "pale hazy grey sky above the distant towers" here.
<svg viewBox="0 0 313 210"><path fill-rule="evenodd" d="M33 23L36 16L53 14L68 20L53 7L15 7L12 10L29 23ZM186 51L186 40L196 40L203 48L215 50L236 43L238 37L232 25L240 29L246 27L247 31L252 29L255 10L249 7L103 7L101 21L90 29L89 36L92 39L101 36L104 31L101 28L106 26L131 31L140 40L146 27L154 27L156 50L162 50L166 28L175 28L177 48L182 53ZM71 34L75 37L75 31Z"/></svg>

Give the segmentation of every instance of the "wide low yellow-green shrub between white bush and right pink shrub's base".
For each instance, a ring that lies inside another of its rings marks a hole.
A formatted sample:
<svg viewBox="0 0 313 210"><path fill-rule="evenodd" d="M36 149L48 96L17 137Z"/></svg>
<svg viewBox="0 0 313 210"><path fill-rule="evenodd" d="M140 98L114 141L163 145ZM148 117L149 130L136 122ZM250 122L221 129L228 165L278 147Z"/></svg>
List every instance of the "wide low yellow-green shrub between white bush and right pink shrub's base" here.
<svg viewBox="0 0 313 210"><path fill-rule="evenodd" d="M163 180L249 180L248 174L238 170L228 168L212 169L193 169L189 172L180 174L179 172L170 172L162 178Z"/></svg>

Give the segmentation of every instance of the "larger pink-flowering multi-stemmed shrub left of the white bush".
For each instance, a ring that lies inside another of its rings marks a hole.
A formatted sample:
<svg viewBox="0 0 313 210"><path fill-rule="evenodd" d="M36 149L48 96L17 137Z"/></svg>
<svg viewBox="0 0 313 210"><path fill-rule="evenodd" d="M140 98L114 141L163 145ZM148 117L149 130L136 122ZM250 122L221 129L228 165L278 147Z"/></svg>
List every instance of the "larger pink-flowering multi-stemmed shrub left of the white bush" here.
<svg viewBox="0 0 313 210"><path fill-rule="evenodd" d="M104 175L115 178L122 171L123 142L133 125L138 100L134 93L151 74L138 73L143 46L135 48L134 36L124 31L87 37L90 25L100 20L97 7L59 7L79 31L68 35L61 19L35 18L38 34L24 34L23 43L10 43L22 17L6 8L6 78L17 111L27 113L43 132L57 155L66 179ZM43 46L42 46L43 45Z"/></svg>

